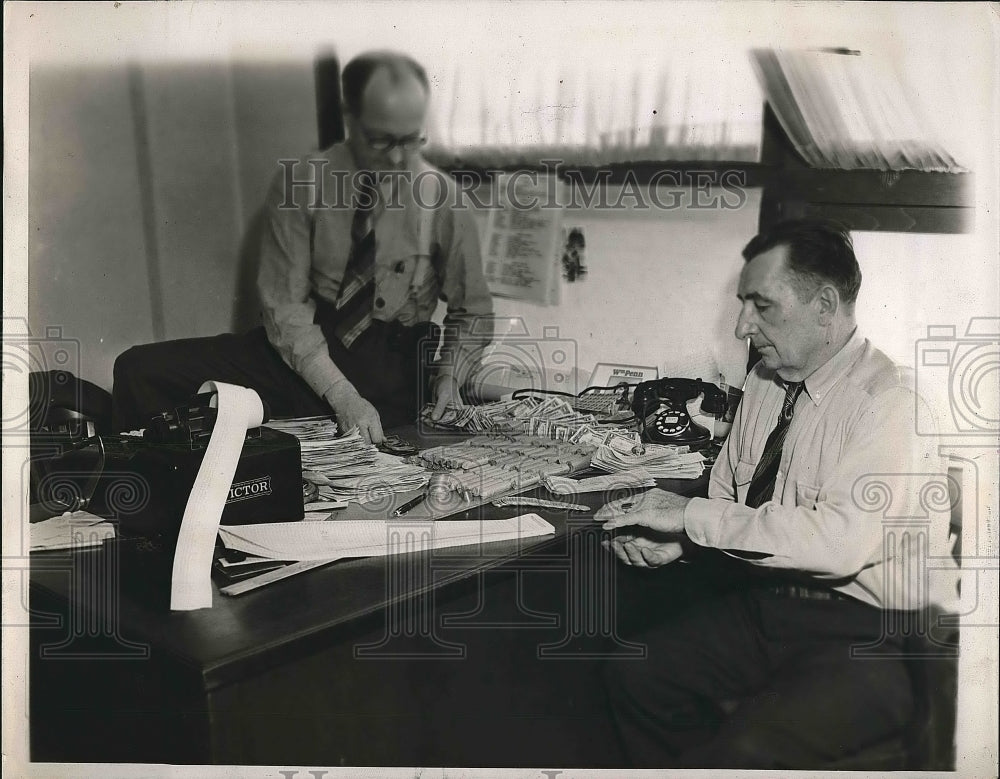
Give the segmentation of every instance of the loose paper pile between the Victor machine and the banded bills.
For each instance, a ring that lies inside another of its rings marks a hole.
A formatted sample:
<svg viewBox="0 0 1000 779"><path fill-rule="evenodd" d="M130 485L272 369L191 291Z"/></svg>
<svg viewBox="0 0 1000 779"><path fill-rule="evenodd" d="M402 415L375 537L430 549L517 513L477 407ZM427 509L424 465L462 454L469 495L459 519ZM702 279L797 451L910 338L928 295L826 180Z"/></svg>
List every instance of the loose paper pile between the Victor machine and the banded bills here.
<svg viewBox="0 0 1000 779"><path fill-rule="evenodd" d="M336 437L329 419L296 419L268 427L292 433L302 448L302 477L319 487L323 501L373 503L427 486L424 468L380 452L357 430Z"/></svg>

